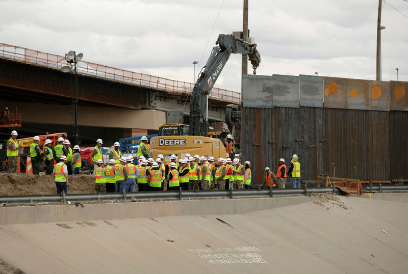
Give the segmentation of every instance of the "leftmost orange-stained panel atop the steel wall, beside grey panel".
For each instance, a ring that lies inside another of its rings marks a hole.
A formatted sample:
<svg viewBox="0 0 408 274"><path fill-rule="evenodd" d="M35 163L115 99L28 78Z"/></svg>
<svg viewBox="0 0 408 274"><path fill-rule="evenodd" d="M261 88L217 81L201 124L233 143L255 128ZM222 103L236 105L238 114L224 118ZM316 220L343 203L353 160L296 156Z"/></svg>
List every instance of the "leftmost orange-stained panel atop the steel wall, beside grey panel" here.
<svg viewBox="0 0 408 274"><path fill-rule="evenodd" d="M347 108L345 78L323 77L324 107Z"/></svg>

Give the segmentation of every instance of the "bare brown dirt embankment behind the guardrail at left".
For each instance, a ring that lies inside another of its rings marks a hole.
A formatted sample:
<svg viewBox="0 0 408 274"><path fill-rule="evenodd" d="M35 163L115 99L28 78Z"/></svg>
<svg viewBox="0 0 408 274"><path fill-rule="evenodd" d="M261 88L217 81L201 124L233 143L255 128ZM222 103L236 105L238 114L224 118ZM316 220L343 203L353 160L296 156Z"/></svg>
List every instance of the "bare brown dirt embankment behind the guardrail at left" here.
<svg viewBox="0 0 408 274"><path fill-rule="evenodd" d="M95 193L95 177L70 175L68 194ZM0 173L0 196L57 194L53 175Z"/></svg>

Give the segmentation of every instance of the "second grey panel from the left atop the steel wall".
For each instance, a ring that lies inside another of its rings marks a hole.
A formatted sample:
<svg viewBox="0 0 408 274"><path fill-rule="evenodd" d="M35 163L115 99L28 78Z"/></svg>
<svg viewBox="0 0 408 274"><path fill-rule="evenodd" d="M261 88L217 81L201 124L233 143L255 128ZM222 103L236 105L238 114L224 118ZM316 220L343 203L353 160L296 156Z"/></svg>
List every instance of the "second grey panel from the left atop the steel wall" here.
<svg viewBox="0 0 408 274"><path fill-rule="evenodd" d="M299 77L272 75L273 106L299 107Z"/></svg>

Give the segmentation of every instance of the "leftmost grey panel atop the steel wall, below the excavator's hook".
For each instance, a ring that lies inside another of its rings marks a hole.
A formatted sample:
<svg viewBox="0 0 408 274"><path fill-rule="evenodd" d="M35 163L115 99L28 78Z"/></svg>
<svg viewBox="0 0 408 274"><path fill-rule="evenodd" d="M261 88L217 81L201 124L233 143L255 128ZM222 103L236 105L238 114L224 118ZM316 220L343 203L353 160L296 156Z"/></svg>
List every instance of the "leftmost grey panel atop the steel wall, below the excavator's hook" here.
<svg viewBox="0 0 408 274"><path fill-rule="evenodd" d="M242 75L242 105L272 108L272 76Z"/></svg>

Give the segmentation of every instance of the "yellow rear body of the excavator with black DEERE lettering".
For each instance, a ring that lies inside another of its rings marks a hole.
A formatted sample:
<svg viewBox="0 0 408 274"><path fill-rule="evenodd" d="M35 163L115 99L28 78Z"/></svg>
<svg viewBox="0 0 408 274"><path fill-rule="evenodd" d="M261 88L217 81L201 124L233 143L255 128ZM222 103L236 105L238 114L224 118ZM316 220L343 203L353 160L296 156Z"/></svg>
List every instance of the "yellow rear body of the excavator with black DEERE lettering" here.
<svg viewBox="0 0 408 274"><path fill-rule="evenodd" d="M217 161L219 157L226 158L225 147L221 140L203 136L157 136L150 139L152 157L163 154L163 162L169 162L171 154L178 159L184 159L186 153L191 156L213 156Z"/></svg>

